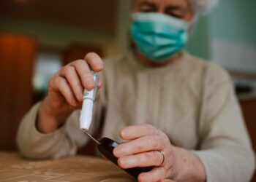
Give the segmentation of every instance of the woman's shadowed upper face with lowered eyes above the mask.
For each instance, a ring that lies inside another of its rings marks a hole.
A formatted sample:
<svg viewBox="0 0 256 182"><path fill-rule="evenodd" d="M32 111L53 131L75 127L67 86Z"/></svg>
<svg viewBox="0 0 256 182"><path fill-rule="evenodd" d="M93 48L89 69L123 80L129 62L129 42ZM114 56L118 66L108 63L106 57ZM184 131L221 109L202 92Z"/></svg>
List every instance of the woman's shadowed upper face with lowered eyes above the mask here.
<svg viewBox="0 0 256 182"><path fill-rule="evenodd" d="M187 22L194 15L189 0L133 0L132 12L159 12Z"/></svg>

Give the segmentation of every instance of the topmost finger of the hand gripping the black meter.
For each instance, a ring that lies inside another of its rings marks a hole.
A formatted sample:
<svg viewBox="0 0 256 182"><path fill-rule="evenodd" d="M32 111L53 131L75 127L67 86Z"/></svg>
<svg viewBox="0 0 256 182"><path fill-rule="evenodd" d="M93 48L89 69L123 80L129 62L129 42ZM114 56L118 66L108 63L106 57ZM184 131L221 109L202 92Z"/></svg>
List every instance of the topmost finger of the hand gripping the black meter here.
<svg viewBox="0 0 256 182"><path fill-rule="evenodd" d="M151 124L132 125L124 127L119 135L122 139L129 141L146 135L159 135L159 129Z"/></svg>

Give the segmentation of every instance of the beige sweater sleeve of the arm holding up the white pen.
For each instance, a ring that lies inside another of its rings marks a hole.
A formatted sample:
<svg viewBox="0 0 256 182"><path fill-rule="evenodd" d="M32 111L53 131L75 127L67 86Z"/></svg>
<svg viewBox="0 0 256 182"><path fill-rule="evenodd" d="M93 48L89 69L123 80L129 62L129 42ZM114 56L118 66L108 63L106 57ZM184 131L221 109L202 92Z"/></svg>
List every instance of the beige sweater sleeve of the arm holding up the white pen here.
<svg viewBox="0 0 256 182"><path fill-rule="evenodd" d="M78 148L88 141L80 131L80 110L74 111L58 130L43 134L36 128L39 104L33 106L20 122L16 139L20 153L32 159L56 159L76 154ZM91 133L99 127L104 107L105 93L102 87L99 98L94 103Z"/></svg>

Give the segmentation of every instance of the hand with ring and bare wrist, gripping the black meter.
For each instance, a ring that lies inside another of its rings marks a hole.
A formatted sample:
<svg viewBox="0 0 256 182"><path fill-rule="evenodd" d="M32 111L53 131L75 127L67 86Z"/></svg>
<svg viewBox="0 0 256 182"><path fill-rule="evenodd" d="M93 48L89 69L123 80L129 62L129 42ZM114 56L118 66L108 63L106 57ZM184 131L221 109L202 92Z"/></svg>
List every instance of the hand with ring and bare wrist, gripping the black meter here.
<svg viewBox="0 0 256 182"><path fill-rule="evenodd" d="M155 166L148 173L140 173L138 181L162 181L165 178L205 181L200 159L185 149L173 146L167 135L156 127L150 124L124 127L120 136L128 141L113 151L121 168Z"/></svg>

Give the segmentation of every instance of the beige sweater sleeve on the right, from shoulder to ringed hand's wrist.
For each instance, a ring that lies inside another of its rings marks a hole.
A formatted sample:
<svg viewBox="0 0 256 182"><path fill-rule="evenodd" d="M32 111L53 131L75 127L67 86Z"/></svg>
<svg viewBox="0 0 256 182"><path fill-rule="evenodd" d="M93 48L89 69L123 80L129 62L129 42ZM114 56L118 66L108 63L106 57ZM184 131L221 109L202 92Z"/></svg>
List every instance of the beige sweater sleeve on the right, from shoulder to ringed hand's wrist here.
<svg viewBox="0 0 256 182"><path fill-rule="evenodd" d="M230 78L209 63L204 85L200 144L195 154L203 162L207 182L249 181L255 155Z"/></svg>

